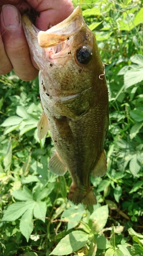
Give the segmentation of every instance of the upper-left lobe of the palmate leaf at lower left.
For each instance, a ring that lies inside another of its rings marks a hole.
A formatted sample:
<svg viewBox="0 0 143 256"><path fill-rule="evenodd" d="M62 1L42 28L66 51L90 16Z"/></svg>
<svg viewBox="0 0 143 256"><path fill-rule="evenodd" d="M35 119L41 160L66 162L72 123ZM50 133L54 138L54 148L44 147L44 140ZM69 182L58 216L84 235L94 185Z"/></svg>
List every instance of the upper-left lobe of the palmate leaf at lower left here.
<svg viewBox="0 0 143 256"><path fill-rule="evenodd" d="M32 201L33 200L33 194L30 189L28 189L26 186L23 186L23 189L19 189L16 191L13 191L13 196L21 201Z"/></svg>

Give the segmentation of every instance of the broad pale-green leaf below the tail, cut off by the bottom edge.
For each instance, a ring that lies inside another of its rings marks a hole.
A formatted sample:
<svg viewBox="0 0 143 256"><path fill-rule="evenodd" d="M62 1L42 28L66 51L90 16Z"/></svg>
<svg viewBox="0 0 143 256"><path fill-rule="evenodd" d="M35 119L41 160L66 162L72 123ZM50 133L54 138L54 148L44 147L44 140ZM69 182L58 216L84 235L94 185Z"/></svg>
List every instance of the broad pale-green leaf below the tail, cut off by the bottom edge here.
<svg viewBox="0 0 143 256"><path fill-rule="evenodd" d="M89 234L75 230L71 233L67 234L66 237L61 239L59 244L53 249L53 251L49 255L67 255L73 253L88 242Z"/></svg>

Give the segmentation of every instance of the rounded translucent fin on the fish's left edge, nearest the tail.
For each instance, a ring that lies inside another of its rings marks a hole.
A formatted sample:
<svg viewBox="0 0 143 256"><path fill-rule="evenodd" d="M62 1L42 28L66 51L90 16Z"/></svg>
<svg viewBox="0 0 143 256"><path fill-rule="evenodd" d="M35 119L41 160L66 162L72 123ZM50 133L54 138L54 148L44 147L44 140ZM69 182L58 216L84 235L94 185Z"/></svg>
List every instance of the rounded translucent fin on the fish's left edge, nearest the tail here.
<svg viewBox="0 0 143 256"><path fill-rule="evenodd" d="M56 151L54 151L52 157L50 158L49 170L50 172L60 176L64 175L67 172L66 165L63 163L61 157Z"/></svg>

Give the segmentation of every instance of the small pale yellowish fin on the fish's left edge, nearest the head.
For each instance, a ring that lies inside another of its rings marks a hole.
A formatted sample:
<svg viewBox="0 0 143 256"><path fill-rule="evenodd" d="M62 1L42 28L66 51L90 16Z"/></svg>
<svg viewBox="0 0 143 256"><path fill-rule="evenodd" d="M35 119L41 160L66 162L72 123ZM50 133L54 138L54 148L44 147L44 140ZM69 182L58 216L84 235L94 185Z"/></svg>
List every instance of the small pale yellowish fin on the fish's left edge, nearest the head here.
<svg viewBox="0 0 143 256"><path fill-rule="evenodd" d="M37 129L38 129L38 138L43 139L43 137L47 134L49 126L48 126L48 119L43 111L38 124L37 124Z"/></svg>

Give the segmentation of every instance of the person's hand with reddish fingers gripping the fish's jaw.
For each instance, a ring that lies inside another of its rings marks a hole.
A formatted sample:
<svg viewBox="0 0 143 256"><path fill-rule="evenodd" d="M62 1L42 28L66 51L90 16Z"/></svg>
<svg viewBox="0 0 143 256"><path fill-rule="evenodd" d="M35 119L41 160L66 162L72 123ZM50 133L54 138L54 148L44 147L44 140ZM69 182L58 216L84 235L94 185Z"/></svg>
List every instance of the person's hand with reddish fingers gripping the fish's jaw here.
<svg viewBox="0 0 143 256"><path fill-rule="evenodd" d="M62 22L73 9L71 0L0 0L0 75L12 69L25 81L38 75L21 24L24 12L33 13L36 27L47 30L49 24L53 26Z"/></svg>

